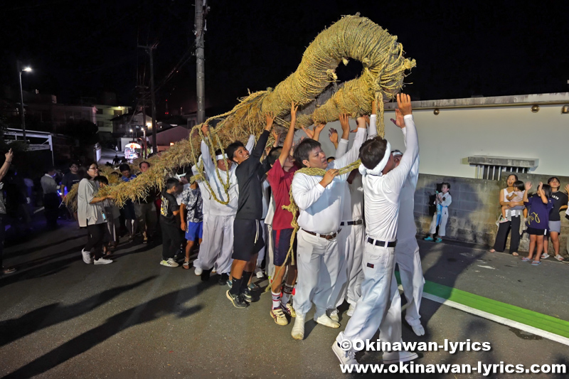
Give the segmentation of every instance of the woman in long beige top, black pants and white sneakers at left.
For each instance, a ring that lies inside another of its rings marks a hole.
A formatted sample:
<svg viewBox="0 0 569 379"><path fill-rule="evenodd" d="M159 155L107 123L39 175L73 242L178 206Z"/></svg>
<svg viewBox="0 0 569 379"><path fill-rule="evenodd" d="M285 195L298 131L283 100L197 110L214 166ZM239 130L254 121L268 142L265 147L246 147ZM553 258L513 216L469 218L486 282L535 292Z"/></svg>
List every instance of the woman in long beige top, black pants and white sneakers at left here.
<svg viewBox="0 0 569 379"><path fill-rule="evenodd" d="M87 178L81 179L77 191L77 214L79 226L87 228L87 245L81 250L83 262L89 265L92 261L91 249L95 249L95 265L107 265L112 260L106 260L102 256L102 245L105 242L107 232L107 215L102 208L102 201L112 199L111 196L96 197L97 183L95 178L99 176L99 166L93 162L88 166Z"/></svg>

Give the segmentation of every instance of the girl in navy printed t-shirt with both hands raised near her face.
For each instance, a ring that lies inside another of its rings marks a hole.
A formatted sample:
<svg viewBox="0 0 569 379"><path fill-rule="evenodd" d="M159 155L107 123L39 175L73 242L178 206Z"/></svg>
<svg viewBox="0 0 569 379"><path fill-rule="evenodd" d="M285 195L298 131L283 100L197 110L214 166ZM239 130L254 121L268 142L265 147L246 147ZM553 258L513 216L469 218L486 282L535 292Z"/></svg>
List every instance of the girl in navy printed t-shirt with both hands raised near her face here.
<svg viewBox="0 0 569 379"><path fill-rule="evenodd" d="M553 200L551 199L551 187L547 184L539 183L536 194L528 198L530 188L531 182L528 181L526 192L523 193L523 203L528 207L529 252L528 256L521 260L524 262L533 260L531 265L537 266L541 264L539 259L543 251L543 237L549 232L549 213L553 208ZM534 250L537 250L535 258L533 258Z"/></svg>

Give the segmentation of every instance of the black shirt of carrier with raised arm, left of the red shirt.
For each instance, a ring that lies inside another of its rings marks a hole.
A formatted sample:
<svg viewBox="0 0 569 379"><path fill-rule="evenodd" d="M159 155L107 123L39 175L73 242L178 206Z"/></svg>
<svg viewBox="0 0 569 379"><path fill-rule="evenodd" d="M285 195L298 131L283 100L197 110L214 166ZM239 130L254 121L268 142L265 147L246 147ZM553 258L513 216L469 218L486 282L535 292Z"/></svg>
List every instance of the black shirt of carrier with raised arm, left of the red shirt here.
<svg viewBox="0 0 569 379"><path fill-rule="evenodd" d="M239 202L235 218L242 220L260 220L262 218L261 156L269 139L269 132L262 132L257 145L249 158L235 169L239 186Z"/></svg>

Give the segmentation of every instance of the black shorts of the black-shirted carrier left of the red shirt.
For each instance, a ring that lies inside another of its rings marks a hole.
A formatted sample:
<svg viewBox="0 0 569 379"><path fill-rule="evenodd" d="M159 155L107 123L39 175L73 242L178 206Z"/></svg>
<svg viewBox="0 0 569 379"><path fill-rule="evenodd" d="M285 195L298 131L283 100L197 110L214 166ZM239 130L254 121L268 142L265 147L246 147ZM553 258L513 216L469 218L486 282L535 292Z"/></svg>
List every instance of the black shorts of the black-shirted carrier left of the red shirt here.
<svg viewBox="0 0 569 379"><path fill-rule="evenodd" d="M257 252L260 252L265 241L262 239L262 220L233 221L233 255L234 260L248 261Z"/></svg>

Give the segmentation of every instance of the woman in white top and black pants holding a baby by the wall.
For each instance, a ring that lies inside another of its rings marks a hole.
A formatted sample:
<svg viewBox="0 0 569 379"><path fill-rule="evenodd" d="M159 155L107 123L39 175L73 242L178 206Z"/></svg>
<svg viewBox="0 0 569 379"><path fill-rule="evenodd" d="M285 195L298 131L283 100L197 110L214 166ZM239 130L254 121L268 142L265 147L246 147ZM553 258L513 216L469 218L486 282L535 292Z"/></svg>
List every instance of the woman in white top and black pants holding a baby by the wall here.
<svg viewBox="0 0 569 379"><path fill-rule="evenodd" d="M518 176L516 174L510 174L506 179L506 188L500 191L499 203L500 206L509 206L514 208L516 205L523 205L523 201L514 202L509 201L506 196L510 193L516 191L514 188L514 183L518 181ZM517 256L518 248L520 245L520 214L521 210L511 210L511 221L505 223L500 223L498 227L498 233L496 234L496 241L494 242L494 247L490 252L503 252L506 250L506 240L508 240L508 234L511 230L511 240L510 240L510 254Z"/></svg>

